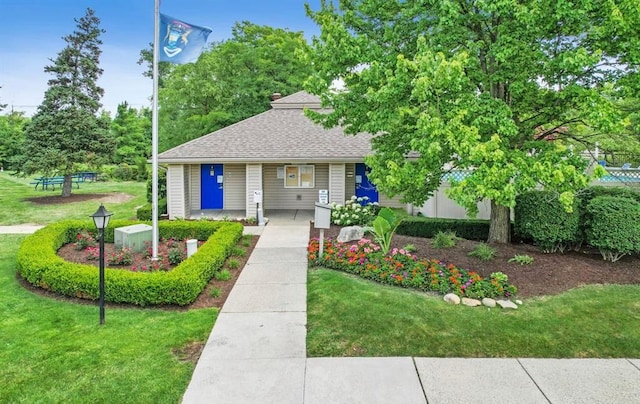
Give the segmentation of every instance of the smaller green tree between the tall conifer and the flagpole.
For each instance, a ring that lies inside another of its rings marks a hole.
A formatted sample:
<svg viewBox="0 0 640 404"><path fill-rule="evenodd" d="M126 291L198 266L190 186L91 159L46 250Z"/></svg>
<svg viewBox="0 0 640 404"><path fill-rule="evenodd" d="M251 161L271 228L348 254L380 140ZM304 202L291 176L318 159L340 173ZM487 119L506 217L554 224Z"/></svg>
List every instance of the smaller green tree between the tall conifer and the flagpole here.
<svg viewBox="0 0 640 404"><path fill-rule="evenodd" d="M111 133L116 141L114 163L136 164L151 157L150 111L131 107L126 101L118 105L111 122Z"/></svg>

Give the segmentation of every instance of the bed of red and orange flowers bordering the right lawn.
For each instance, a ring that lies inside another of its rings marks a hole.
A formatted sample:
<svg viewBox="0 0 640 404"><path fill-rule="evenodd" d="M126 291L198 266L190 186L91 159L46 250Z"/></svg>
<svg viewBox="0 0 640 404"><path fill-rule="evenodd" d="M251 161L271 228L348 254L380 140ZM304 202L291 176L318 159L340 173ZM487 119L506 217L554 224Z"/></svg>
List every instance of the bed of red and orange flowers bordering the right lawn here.
<svg viewBox="0 0 640 404"><path fill-rule="evenodd" d="M420 259L403 249L393 248L384 255L380 247L368 239L356 244L325 239L322 258L318 257L319 249L319 240L312 239L307 248L312 264L389 285L441 294L455 293L470 298L511 297L517 291L501 272L494 272L485 279L476 272L456 268L453 264Z"/></svg>

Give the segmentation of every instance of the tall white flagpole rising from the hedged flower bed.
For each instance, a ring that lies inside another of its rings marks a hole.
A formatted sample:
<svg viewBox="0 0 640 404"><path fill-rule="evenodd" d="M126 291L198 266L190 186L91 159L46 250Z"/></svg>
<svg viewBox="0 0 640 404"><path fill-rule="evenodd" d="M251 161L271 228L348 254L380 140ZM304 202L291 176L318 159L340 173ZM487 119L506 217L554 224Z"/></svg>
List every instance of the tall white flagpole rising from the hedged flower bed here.
<svg viewBox="0 0 640 404"><path fill-rule="evenodd" d="M158 59L160 54L160 0L154 0L153 13L153 105L151 118L151 227L152 260L158 259Z"/></svg>

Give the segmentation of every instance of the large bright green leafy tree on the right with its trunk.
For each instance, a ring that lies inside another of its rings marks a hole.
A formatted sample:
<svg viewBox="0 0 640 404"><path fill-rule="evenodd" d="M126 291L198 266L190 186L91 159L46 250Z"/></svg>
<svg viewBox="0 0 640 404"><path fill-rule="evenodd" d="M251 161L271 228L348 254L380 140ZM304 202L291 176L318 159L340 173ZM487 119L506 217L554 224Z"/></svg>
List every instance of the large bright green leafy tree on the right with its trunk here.
<svg viewBox="0 0 640 404"><path fill-rule="evenodd" d="M557 191L570 209L590 180L568 147L585 141L578 126L622 135L616 101L640 87L634 0L343 0L307 13L321 34L306 88L332 108L308 115L375 134L371 179L405 202L468 170L448 195L470 214L491 200L490 242L509 241L522 191Z"/></svg>

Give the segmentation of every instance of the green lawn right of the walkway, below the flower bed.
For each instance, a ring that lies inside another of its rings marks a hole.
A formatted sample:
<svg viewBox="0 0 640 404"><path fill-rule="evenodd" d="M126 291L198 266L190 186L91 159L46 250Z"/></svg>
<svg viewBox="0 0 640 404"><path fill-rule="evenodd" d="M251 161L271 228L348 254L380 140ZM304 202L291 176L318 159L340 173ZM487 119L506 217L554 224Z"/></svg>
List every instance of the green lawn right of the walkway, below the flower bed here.
<svg viewBox="0 0 640 404"><path fill-rule="evenodd" d="M638 286L583 287L518 310L453 306L326 269L311 270L307 288L310 357L640 357Z"/></svg>

